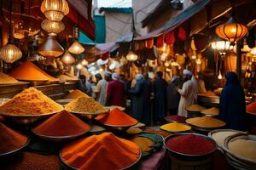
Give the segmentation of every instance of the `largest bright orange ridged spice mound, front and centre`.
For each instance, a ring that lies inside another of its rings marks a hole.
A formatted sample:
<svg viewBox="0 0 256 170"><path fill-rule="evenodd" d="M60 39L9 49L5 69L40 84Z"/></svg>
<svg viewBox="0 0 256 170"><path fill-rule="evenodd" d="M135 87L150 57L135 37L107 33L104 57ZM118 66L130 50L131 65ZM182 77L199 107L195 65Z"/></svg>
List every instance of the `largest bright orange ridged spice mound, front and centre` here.
<svg viewBox="0 0 256 170"><path fill-rule="evenodd" d="M75 169L118 170L135 163L140 149L113 133L102 133L67 144L60 155L64 163Z"/></svg>

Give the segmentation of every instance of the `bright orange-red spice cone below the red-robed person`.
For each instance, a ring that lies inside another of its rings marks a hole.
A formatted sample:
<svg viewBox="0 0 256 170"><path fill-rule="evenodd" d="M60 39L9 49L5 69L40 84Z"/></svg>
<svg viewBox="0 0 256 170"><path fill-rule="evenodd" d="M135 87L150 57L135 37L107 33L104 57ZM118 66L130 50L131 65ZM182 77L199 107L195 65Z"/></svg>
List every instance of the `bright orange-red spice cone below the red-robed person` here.
<svg viewBox="0 0 256 170"><path fill-rule="evenodd" d="M103 125L128 127L137 124L137 120L127 115L125 112L120 111L118 108L109 111L108 114L96 116L96 121L101 122Z"/></svg>

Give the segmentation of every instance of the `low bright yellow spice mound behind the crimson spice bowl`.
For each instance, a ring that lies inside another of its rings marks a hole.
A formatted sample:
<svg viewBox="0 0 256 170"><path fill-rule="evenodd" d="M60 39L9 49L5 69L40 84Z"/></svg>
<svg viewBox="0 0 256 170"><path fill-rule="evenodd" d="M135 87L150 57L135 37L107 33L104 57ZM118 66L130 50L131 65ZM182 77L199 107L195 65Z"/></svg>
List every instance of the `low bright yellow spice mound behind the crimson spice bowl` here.
<svg viewBox="0 0 256 170"><path fill-rule="evenodd" d="M160 129L166 130L171 133L181 133L181 132L189 131L191 127L183 123L171 122L171 123L167 123L165 125L160 126Z"/></svg>

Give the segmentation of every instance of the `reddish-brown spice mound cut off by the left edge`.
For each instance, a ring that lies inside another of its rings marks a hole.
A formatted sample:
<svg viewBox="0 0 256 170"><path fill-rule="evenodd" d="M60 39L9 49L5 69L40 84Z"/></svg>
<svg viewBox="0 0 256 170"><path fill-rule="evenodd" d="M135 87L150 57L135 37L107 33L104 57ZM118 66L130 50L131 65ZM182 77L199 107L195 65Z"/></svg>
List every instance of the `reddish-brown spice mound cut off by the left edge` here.
<svg viewBox="0 0 256 170"><path fill-rule="evenodd" d="M27 137L0 122L0 154L17 150L27 143Z"/></svg>

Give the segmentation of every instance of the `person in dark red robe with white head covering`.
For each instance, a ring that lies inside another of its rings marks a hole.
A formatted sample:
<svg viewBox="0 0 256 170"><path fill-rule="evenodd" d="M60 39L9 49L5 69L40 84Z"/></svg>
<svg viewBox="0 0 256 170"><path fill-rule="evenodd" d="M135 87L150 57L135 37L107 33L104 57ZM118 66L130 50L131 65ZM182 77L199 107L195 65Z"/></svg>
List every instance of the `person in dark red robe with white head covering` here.
<svg viewBox="0 0 256 170"><path fill-rule="evenodd" d="M125 86L119 81L119 74L112 74L112 81L108 82L107 105L125 106Z"/></svg>

